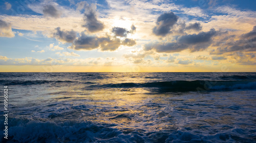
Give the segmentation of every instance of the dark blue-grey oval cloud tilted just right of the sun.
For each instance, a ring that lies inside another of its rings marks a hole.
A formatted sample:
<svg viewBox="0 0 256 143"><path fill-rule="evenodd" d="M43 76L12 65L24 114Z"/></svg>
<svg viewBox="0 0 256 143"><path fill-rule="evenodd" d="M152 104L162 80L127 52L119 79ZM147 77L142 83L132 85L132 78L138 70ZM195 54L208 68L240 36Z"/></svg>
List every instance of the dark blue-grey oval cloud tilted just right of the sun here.
<svg viewBox="0 0 256 143"><path fill-rule="evenodd" d="M153 33L157 36L166 36L170 33L170 29L178 21L178 16L173 12L161 14L157 18L157 26L153 28Z"/></svg>

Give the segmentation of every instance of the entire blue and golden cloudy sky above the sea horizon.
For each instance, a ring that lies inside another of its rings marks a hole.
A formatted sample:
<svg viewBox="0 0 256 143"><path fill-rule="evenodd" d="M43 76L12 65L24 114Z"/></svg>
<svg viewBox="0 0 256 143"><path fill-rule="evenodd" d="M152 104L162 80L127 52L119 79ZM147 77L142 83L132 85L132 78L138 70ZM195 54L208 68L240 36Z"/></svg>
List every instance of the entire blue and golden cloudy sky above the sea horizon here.
<svg viewBox="0 0 256 143"><path fill-rule="evenodd" d="M255 6L0 0L0 72L256 72Z"/></svg>

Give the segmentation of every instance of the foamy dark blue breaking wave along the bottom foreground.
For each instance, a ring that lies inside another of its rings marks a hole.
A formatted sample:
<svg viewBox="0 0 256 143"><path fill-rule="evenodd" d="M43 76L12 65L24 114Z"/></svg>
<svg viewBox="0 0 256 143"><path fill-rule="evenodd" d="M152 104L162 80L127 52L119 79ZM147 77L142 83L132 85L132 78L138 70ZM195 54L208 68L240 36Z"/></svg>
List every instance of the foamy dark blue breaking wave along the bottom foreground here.
<svg viewBox="0 0 256 143"><path fill-rule="evenodd" d="M8 140L0 142L254 142L255 131L231 128L215 134L193 132L193 129L144 131L115 128L116 124L90 121L60 121L13 118ZM2 128L4 125L0 125Z"/></svg>

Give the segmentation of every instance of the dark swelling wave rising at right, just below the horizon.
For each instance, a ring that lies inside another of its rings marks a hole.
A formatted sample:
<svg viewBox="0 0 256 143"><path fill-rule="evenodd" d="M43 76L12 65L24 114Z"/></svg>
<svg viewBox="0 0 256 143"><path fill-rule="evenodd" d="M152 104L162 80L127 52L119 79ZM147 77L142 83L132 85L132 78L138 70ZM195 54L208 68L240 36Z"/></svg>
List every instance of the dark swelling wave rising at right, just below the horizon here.
<svg viewBox="0 0 256 143"><path fill-rule="evenodd" d="M163 92L185 92L185 91L220 91L220 90L239 90L256 89L255 80L194 80L194 81L161 81L146 83L115 83L91 85L90 88L148 88Z"/></svg>

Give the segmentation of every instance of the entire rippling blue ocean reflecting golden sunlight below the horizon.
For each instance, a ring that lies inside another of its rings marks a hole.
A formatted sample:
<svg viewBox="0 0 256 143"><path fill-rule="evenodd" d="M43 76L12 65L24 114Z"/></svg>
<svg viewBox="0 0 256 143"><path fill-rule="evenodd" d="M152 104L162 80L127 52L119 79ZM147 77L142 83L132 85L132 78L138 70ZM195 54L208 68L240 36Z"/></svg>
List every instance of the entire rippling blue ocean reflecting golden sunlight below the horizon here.
<svg viewBox="0 0 256 143"><path fill-rule="evenodd" d="M0 142L256 142L256 73L0 73L0 82Z"/></svg>

